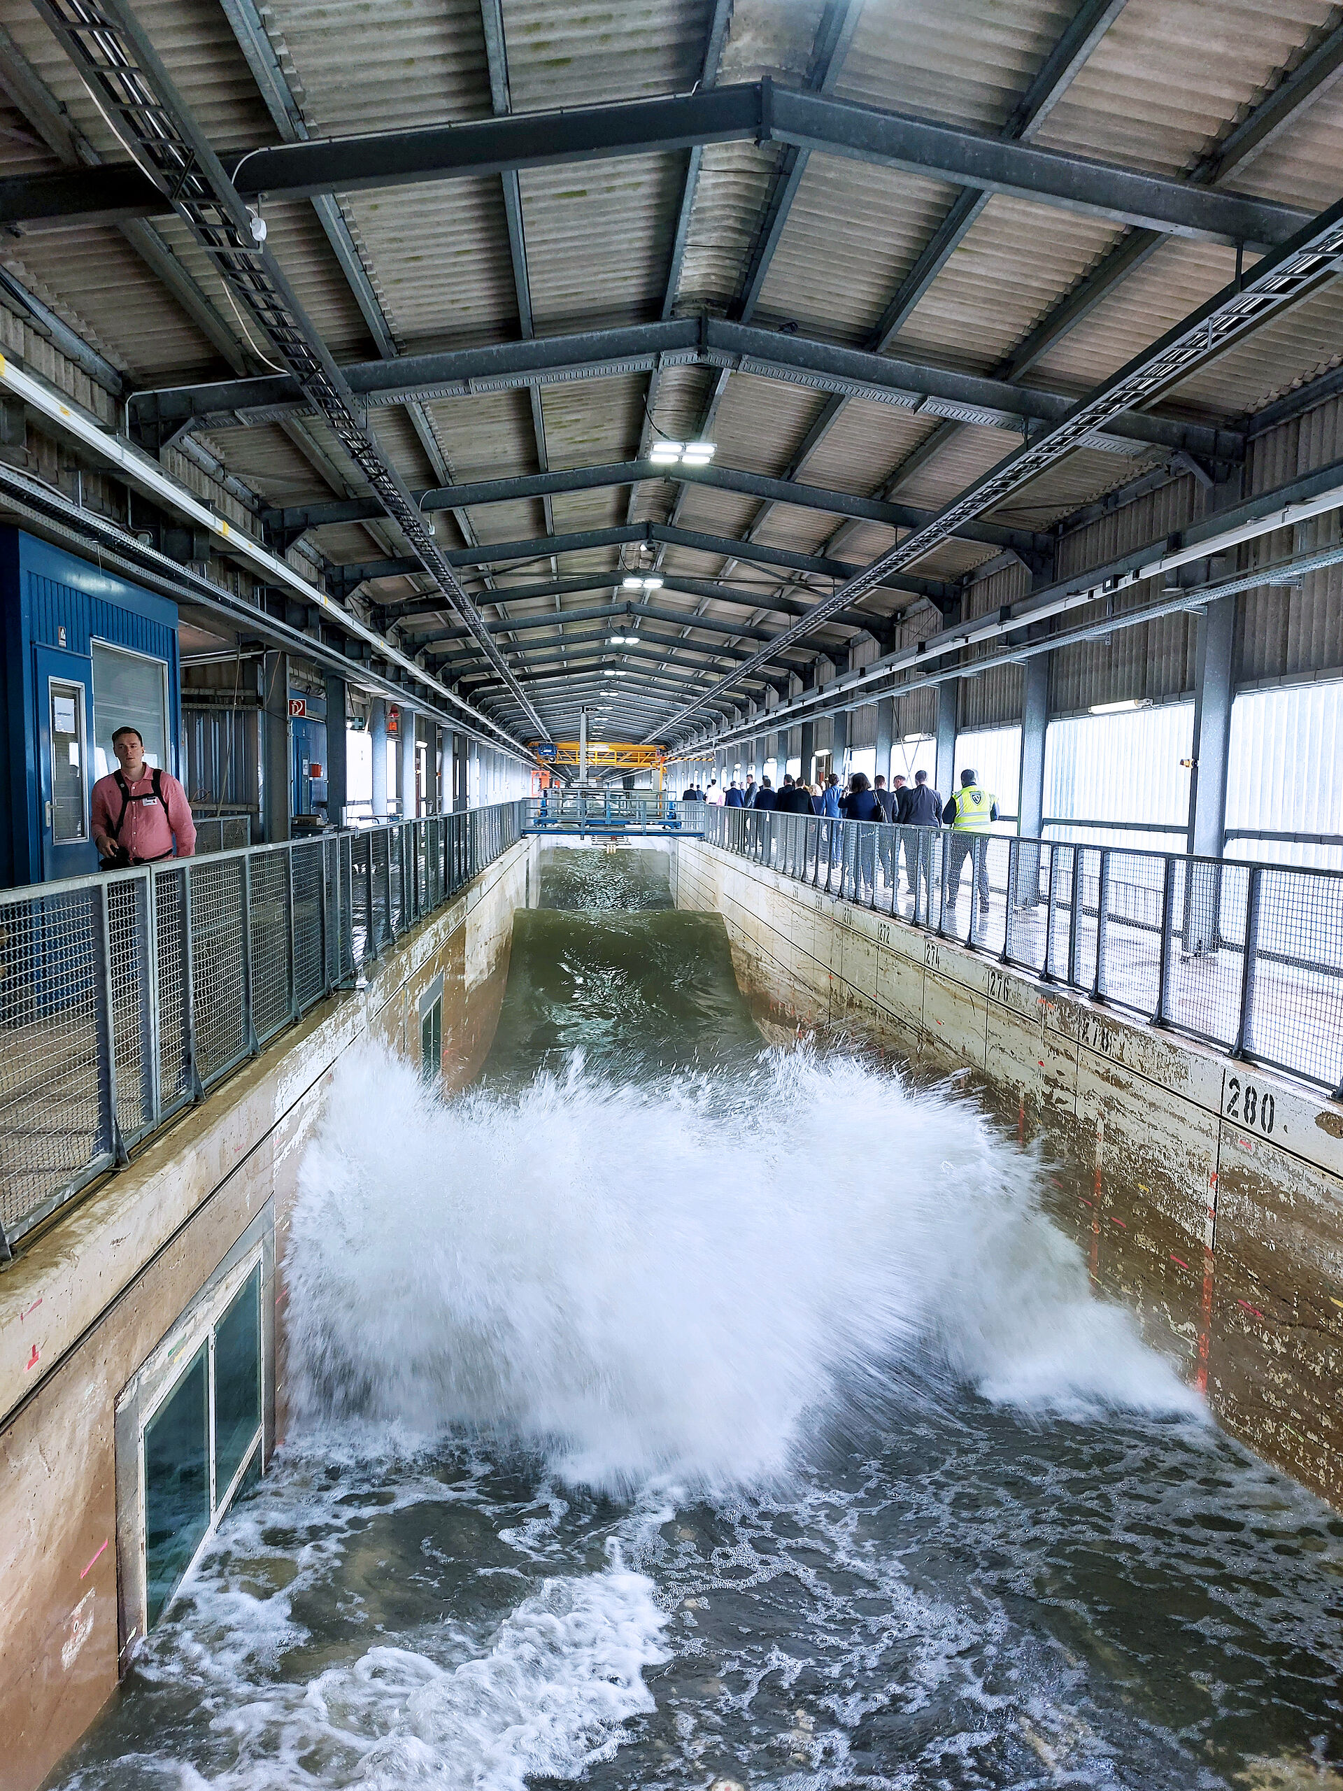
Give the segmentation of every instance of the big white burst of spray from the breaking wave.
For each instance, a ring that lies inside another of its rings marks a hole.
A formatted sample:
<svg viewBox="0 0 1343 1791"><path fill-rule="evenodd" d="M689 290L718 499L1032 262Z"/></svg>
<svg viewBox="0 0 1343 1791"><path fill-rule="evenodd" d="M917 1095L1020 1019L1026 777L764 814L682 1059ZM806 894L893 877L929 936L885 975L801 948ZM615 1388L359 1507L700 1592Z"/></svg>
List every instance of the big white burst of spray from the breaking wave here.
<svg viewBox="0 0 1343 1791"><path fill-rule="evenodd" d="M580 1481L783 1472L854 1399L1194 1413L965 1103L849 1058L441 1103L340 1069L287 1259L297 1408L485 1427Z"/></svg>

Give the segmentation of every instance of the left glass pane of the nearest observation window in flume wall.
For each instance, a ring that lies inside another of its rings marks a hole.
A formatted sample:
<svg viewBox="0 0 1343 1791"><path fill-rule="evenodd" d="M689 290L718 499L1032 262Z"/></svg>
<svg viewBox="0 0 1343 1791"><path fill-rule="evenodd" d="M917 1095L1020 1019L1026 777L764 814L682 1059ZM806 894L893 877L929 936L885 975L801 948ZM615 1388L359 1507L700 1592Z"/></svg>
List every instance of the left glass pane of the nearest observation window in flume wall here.
<svg viewBox="0 0 1343 1791"><path fill-rule="evenodd" d="M210 1530L208 1345L145 1427L145 1590L150 1626Z"/></svg>

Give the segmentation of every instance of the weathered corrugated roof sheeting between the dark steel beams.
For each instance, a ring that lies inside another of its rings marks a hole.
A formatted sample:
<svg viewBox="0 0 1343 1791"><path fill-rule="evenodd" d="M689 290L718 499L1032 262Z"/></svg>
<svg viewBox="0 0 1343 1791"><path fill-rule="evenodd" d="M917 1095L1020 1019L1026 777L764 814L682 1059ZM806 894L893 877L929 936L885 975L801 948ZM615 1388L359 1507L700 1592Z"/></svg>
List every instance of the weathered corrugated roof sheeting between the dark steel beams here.
<svg viewBox="0 0 1343 1791"><path fill-rule="evenodd" d="M136 0L138 16L179 82L211 141L236 150L276 140L276 127L256 91L247 63L215 0ZM598 100L688 91L704 72L711 21L709 0L603 0L577 9L560 0L503 0L510 102L516 111L586 106ZM770 73L802 84L813 64L822 0L736 0L718 79ZM1001 131L1042 68L1073 16L1071 0L868 0L861 9L843 63L831 72L831 91L863 104L944 118L974 131ZM122 159L120 149L72 64L47 27L20 0L0 0L0 18L20 50L50 84L56 99L90 141ZM485 39L476 0L272 0L263 11L270 45L313 133L349 134L410 127L491 113ZM1074 72L1071 86L1035 131L1040 145L1123 161L1164 176L1191 172L1202 156L1296 66L1322 32L1334 27L1329 0L1128 0ZM47 149L23 136L25 125L0 107L0 174L54 167ZM18 134L14 134L18 133ZM761 238L765 206L783 150L750 143L711 145L700 158L695 206L675 294L675 312L732 313L743 270ZM521 177L526 276L539 333L591 330L663 315L672 240L682 202L688 152L675 149L641 158L530 170ZM1277 140L1227 183L1296 206L1323 206L1338 195L1343 167L1343 99L1325 93ZM940 179L908 176L842 158L813 154L783 226L777 253L763 283L754 322L799 324L831 342L861 344L935 235L956 188ZM303 201L267 204L270 244L317 328L340 358L374 353L360 313L313 208ZM503 190L498 177L426 183L365 192L344 201L358 253L381 303L389 330L405 349L457 347L512 340L519 330ZM175 222L165 240L208 294L229 330L229 303L210 260ZM996 373L1030 331L1121 240L1103 220L994 197L981 210L920 304L908 317L897 351L945 367ZM7 265L32 283L73 328L124 365L136 381L167 383L218 373L217 351L133 254L104 226L77 224L32 231L11 242ZM1218 290L1234 272L1234 254L1207 244L1164 242L1030 371L1028 381L1082 394L1128 362L1164 330ZM1239 349L1185 381L1171 403L1193 416L1236 417L1339 364L1343 351L1343 288L1282 313ZM686 439L704 426L709 394L720 374L706 367L666 367L657 381L655 424ZM548 460L555 467L625 460L646 441L648 374L552 385L543 390ZM718 462L783 476L825 407L817 390L734 374L713 421ZM430 407L433 428L458 480L500 478L537 467L537 441L526 392L482 392ZM435 475L410 419L401 408L372 412L372 426L389 458L410 485ZM269 501L321 500L329 484L358 489L329 433L306 419L297 441L310 439L329 458L319 473L279 426L218 430L213 448L226 464ZM1001 430L960 426L883 405L849 401L800 476L822 487L872 494L883 491L933 432L938 450L897 484L901 501L938 509L958 496L1015 446ZM1338 453L1336 410L1320 407L1286 432L1252 446L1246 489L1266 489L1305 466ZM1142 464L1119 455L1080 451L1015 493L997 516L1037 530L1064 521L1101 493L1123 485ZM1159 539L1171 518L1194 505L1191 480L1067 534L1060 570L1082 559L1103 559L1119 544ZM1202 500L1200 500L1202 501ZM654 518L704 534L732 537L747 528L766 544L791 552L827 552L861 564L881 552L894 532L877 523L845 521L840 514L761 500L709 487L646 482L629 487L557 494L557 530L600 528ZM516 500L478 507L471 525L482 541L539 536L543 505ZM453 534L453 525L448 525ZM319 534L324 552L371 559L376 541L396 546L383 525L331 527ZM1280 548L1266 543L1264 552ZM917 568L926 577L956 580L996 550L954 539ZM600 548L559 557L560 575L616 573L634 550ZM723 555L686 548L659 550L672 586L677 573L713 578ZM532 582L548 575L544 550L534 562L500 566L494 580ZM485 580L471 573L489 602ZM1241 600L1243 675L1282 677L1318 668L1320 656L1343 656L1336 639L1338 611L1332 573L1314 575L1302 591L1250 593ZM997 584L1019 582L1005 570L972 586L971 602L990 602ZM786 568L736 561L731 582L759 591L768 614L774 593L831 589L829 578L793 575ZM385 580L380 596L414 589L410 580ZM661 593L664 607L688 614L706 600ZM1132 595L1126 595L1126 602ZM525 600L548 613L552 600ZM560 600L580 607L591 598ZM908 598L883 591L872 607L888 613ZM1332 607L1330 607L1332 605ZM707 611L743 618L732 604L707 602ZM775 613L777 616L777 613ZM910 627L937 618L919 607ZM428 634L430 620L412 632ZM849 630L829 629L802 648ZM706 634L706 630L697 630ZM1128 630L1114 643L1060 654L1055 666L1058 700L1085 706L1091 693L1137 681L1146 693L1171 695L1191 677L1191 623L1173 620L1151 630ZM707 636L718 643L720 636ZM987 673L965 697L976 725L996 725L1014 700L1015 670ZM1142 693L1119 690L1121 695ZM902 698L901 711L928 715L924 697Z"/></svg>

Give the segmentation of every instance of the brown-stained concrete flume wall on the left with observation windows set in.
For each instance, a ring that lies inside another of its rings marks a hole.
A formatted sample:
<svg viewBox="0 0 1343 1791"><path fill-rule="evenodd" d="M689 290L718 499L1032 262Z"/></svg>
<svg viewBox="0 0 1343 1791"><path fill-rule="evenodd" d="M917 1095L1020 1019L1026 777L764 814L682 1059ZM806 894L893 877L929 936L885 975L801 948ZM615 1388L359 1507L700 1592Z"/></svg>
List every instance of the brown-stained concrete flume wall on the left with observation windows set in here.
<svg viewBox="0 0 1343 1791"><path fill-rule="evenodd" d="M0 1728L5 1791L30 1791L118 1680L116 1399L260 1216L283 1264L297 1164L338 1058L372 1035L419 1058L417 1001L442 974L444 1078L494 1037L514 910L535 847L510 847L441 913L156 1137L0 1273ZM263 1300L279 1307L283 1270ZM125 1469L125 1463L120 1463Z"/></svg>

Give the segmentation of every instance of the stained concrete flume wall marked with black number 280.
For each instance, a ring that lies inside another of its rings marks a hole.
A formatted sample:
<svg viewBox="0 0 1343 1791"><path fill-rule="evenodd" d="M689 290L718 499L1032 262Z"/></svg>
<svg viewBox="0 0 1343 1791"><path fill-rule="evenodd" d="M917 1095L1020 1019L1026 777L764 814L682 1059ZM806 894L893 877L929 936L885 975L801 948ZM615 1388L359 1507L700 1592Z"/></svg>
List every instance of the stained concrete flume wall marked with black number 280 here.
<svg viewBox="0 0 1343 1791"><path fill-rule="evenodd" d="M1343 1107L718 847L679 858L677 904L723 915L777 1019L978 1073L1019 1135L1044 1132L1098 1291L1343 1506Z"/></svg>

